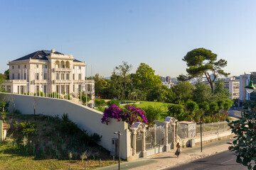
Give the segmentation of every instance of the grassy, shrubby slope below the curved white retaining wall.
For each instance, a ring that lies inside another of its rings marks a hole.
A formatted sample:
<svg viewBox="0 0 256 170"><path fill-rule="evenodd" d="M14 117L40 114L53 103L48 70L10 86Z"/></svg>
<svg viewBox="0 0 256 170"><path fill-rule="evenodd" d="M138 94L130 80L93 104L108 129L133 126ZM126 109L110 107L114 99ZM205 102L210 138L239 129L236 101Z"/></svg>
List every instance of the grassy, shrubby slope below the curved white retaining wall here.
<svg viewBox="0 0 256 170"><path fill-rule="evenodd" d="M96 169L100 159L101 166L113 164L110 153L95 144L99 136L66 118L8 114L6 123L10 128L0 143L0 169L85 169L85 161L87 169Z"/></svg>

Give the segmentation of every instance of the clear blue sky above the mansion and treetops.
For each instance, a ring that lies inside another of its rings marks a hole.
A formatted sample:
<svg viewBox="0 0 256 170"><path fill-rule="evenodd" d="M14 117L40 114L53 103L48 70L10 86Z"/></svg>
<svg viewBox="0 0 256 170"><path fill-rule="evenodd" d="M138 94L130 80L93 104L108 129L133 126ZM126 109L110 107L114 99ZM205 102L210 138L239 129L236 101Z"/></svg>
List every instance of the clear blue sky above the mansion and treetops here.
<svg viewBox="0 0 256 170"><path fill-rule="evenodd" d="M226 72L256 71L256 1L3 1L0 72L9 60L55 49L104 77L126 61L161 76L186 73L186 52L205 47Z"/></svg>

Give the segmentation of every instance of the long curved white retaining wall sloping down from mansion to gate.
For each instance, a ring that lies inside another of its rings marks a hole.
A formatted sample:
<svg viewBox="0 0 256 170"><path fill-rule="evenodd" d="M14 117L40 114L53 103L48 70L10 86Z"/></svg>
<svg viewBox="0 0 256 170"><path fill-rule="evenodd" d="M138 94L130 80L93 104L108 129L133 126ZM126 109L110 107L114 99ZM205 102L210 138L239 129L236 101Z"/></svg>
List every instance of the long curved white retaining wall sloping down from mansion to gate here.
<svg viewBox="0 0 256 170"><path fill-rule="evenodd" d="M9 111L13 111L15 103L15 108L21 111L22 114L33 115L33 105L36 103L36 114L53 117L59 115L61 118L63 113L68 113L68 118L76 123L80 129L87 130L90 134L95 132L102 135L100 145L109 151L112 149L112 138L118 138L117 135L114 135L114 132L119 130L122 133L120 136L121 157L127 159L131 155L130 132L127 123L111 119L109 125L102 124L103 113L100 111L56 98L5 93L1 93L0 97L4 101L10 101Z"/></svg>

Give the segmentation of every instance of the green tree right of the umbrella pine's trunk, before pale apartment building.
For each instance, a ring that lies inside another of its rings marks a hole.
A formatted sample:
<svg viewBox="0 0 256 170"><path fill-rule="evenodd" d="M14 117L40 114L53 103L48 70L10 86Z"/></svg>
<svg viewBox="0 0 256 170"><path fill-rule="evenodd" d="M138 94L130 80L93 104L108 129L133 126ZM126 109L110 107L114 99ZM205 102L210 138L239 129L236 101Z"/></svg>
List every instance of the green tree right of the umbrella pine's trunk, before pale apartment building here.
<svg viewBox="0 0 256 170"><path fill-rule="evenodd" d="M214 86L214 96L216 100L229 98L230 94L228 89L225 89L225 84L223 79L218 79L218 81L215 81Z"/></svg>

